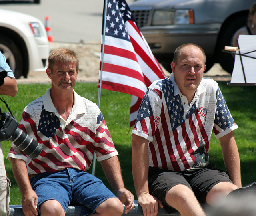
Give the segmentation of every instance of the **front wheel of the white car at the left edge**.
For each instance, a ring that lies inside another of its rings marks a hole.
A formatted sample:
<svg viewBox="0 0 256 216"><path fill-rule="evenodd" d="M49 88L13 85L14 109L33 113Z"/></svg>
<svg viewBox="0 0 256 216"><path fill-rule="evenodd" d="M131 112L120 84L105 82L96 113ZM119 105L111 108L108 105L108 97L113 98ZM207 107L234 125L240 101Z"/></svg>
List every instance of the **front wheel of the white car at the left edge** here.
<svg viewBox="0 0 256 216"><path fill-rule="evenodd" d="M13 40L0 35L0 50L4 54L6 62L13 71L15 78L20 78L23 75L23 58L19 48Z"/></svg>

